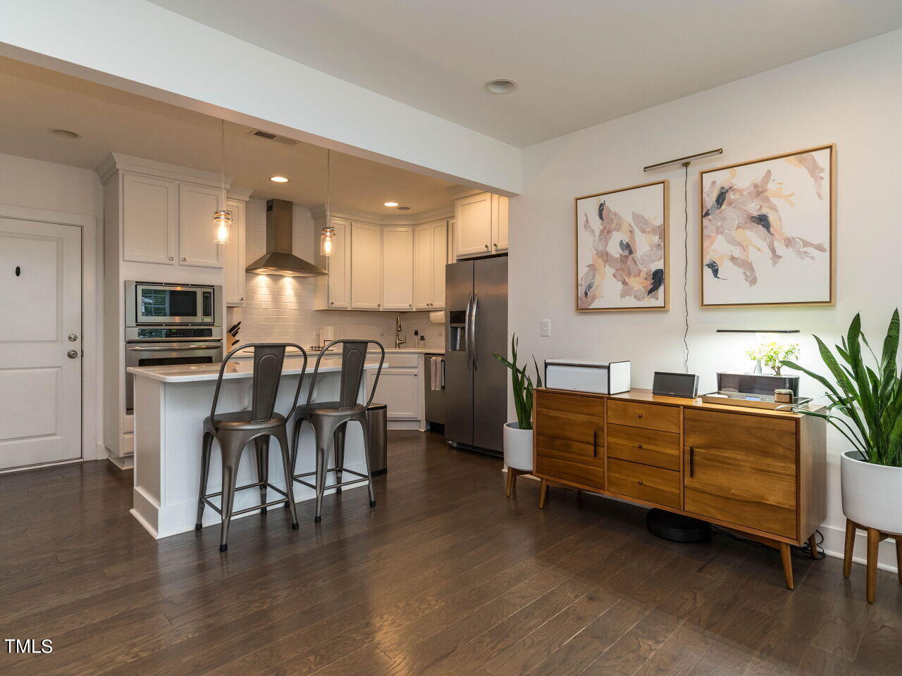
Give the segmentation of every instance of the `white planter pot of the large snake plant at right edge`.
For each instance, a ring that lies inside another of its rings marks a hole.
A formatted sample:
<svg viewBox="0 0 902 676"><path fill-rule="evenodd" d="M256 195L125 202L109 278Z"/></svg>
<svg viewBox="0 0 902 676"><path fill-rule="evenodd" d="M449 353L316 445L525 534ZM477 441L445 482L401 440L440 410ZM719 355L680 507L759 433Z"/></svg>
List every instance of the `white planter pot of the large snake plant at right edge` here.
<svg viewBox="0 0 902 676"><path fill-rule="evenodd" d="M842 513L858 525L902 533L902 467L861 460L858 451L840 456Z"/></svg>

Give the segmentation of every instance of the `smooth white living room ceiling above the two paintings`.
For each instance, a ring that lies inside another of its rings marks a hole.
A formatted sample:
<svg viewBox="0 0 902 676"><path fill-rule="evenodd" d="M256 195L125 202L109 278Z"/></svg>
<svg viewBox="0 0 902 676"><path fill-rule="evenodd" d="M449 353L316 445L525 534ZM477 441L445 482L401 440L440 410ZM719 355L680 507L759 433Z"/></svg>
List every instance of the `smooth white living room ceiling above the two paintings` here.
<svg viewBox="0 0 902 676"><path fill-rule="evenodd" d="M899 0L151 2L521 147L902 27Z"/></svg>

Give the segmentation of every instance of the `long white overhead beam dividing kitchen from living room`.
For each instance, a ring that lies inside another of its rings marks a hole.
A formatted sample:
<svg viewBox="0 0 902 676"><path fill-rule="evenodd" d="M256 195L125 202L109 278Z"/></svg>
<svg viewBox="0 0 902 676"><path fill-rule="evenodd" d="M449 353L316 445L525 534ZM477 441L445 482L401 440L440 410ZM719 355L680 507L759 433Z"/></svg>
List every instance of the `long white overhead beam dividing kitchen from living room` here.
<svg viewBox="0 0 902 676"><path fill-rule="evenodd" d="M89 5L5 3L0 54L454 182L520 188L507 143L143 0Z"/></svg>

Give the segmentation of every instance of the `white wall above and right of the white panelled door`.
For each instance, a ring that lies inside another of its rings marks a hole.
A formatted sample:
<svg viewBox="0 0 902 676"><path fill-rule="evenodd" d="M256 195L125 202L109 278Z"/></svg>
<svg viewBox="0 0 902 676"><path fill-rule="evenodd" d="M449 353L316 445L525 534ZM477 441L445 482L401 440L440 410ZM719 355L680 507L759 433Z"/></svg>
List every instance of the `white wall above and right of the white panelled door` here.
<svg viewBox="0 0 902 676"><path fill-rule="evenodd" d="M106 458L97 448L101 425L100 354L103 349L102 226L103 191L97 173L51 162L0 154L0 205L87 215L95 225L82 228L83 367L82 455ZM100 444L102 446L102 444Z"/></svg>

